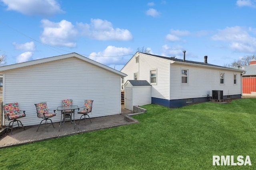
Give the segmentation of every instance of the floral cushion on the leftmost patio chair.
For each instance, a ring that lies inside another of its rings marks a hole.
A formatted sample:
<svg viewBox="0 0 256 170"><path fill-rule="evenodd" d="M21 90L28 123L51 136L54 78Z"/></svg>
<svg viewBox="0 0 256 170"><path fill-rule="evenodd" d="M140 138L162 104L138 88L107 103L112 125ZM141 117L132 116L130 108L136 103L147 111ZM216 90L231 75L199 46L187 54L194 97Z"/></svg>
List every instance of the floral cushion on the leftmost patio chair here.
<svg viewBox="0 0 256 170"><path fill-rule="evenodd" d="M7 118L9 120L18 119L20 117L25 117L26 116L24 112L20 113L20 109L19 109L19 106L18 106L17 102L16 103L5 104L3 106L3 109L4 109L5 115L7 116Z"/></svg>

